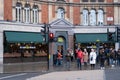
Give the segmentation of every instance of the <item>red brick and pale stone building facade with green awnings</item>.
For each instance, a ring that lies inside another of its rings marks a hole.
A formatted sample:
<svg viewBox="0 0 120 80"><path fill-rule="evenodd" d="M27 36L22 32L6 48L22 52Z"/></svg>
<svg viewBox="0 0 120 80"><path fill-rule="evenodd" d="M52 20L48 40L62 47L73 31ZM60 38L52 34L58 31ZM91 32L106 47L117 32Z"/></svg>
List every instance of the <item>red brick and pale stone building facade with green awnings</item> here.
<svg viewBox="0 0 120 80"><path fill-rule="evenodd" d="M45 47L41 33L44 23L49 24L49 32L57 38L57 41L49 43L49 56L52 60L57 50L63 51L64 55L68 48L73 50L81 47L97 48L98 42L101 47L107 45L116 50L119 48L116 34L120 25L120 0L0 0L0 2L0 64L12 63L4 58L8 56L5 55L6 52L15 52L11 50L12 48L5 47L8 46L4 44L6 42L10 47L17 44L18 48L15 49L17 57L22 55L19 50L27 50L29 53L44 51L38 47L39 45ZM112 41L108 39L108 33L114 35ZM18 38L15 38L17 36ZM16 61L21 62L20 59ZM36 57L35 59L40 61ZM31 62L31 59L27 62ZM3 68L1 72L4 72Z"/></svg>

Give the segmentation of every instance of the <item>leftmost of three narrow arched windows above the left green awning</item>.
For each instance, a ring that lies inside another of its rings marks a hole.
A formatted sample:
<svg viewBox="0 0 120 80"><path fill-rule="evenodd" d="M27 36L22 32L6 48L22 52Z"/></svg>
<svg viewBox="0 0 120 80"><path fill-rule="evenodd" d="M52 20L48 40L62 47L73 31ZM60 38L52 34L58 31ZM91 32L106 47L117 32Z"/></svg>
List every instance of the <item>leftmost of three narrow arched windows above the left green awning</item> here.
<svg viewBox="0 0 120 80"><path fill-rule="evenodd" d="M20 2L16 3L16 21L22 21L22 4Z"/></svg>

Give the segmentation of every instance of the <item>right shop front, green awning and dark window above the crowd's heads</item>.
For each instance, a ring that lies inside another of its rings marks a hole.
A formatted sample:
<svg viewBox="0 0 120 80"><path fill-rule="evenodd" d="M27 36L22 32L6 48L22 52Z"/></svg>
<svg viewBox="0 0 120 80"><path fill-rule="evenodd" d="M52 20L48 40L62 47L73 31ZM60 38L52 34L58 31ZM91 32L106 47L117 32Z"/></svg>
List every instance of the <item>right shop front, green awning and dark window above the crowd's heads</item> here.
<svg viewBox="0 0 120 80"><path fill-rule="evenodd" d="M86 48L90 53L91 48L96 49L99 53L100 48L115 48L115 42L108 41L107 33L76 33L75 38L75 49Z"/></svg>

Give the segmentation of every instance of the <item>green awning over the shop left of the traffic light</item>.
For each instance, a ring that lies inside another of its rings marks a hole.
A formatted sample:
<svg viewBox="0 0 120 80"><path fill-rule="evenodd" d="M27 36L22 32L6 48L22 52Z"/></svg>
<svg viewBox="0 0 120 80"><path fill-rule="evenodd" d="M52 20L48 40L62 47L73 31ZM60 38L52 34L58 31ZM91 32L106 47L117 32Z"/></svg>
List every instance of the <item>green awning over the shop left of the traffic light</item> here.
<svg viewBox="0 0 120 80"><path fill-rule="evenodd" d="M8 42L13 43L41 43L44 41L43 36L35 32L5 31L5 36Z"/></svg>

